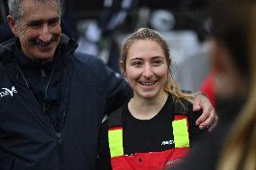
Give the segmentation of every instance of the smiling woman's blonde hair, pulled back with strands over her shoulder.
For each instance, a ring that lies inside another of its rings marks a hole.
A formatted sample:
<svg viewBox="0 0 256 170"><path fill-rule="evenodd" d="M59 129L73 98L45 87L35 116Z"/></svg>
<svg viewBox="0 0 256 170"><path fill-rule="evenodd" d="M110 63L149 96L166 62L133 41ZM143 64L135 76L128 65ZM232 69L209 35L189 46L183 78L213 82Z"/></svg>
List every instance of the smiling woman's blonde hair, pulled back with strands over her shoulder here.
<svg viewBox="0 0 256 170"><path fill-rule="evenodd" d="M123 62L123 72L125 72L126 59L128 55L128 50L130 49L133 42L137 40L152 40L160 44L161 49L164 52L167 65L168 65L168 78L164 85L164 91L168 94L172 94L175 99L186 99L191 101L195 96L194 94L184 94L181 92L179 86L175 83L170 72L171 58L169 56L169 46L166 40L164 40L158 31L151 30L149 28L141 28L138 31L133 32L128 38L123 41L122 46L122 62Z"/></svg>

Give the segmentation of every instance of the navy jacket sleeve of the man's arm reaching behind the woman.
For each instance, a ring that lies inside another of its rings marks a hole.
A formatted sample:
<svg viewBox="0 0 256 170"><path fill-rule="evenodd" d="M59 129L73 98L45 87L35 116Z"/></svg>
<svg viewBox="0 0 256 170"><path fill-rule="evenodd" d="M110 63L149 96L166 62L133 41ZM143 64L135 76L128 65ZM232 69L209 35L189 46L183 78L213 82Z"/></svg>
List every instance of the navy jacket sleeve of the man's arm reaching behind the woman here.
<svg viewBox="0 0 256 170"><path fill-rule="evenodd" d="M107 97L105 113L109 114L114 112L124 103L127 103L133 96L133 90L123 77L115 73L110 67L107 67L102 59L88 55L87 58L85 58L84 56L85 54L83 53L76 53L76 57L86 63L85 67L91 70L93 75L90 76L96 77L98 82L104 85ZM91 84L93 84L93 82L91 82Z"/></svg>

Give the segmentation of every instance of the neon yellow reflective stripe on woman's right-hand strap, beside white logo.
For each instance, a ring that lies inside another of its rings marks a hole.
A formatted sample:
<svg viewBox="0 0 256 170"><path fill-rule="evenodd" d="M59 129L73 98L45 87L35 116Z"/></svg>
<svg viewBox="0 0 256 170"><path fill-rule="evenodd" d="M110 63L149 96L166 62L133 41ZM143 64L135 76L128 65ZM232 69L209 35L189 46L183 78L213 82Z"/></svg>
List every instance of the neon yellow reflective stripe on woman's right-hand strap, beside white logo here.
<svg viewBox="0 0 256 170"><path fill-rule="evenodd" d="M175 148L189 147L187 119L172 121Z"/></svg>

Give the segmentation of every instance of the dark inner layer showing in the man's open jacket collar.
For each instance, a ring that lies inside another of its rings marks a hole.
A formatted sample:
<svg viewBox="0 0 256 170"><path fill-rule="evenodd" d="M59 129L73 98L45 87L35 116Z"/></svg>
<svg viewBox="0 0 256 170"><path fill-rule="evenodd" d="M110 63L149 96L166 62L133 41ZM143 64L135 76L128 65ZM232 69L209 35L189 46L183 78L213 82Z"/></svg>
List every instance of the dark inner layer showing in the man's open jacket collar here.
<svg viewBox="0 0 256 170"><path fill-rule="evenodd" d="M16 40L14 47L14 56L17 64L23 73L19 73L18 78L21 82L26 81L34 94L37 103L41 108L42 114L46 119L50 118L50 123L59 133L60 116L59 116L59 100L60 100L60 82L63 73L63 58L58 52L55 53L54 60L41 64L35 62L23 55L19 41ZM57 59L60 61L57 65ZM23 76L25 80L23 80ZM49 84L49 86L48 86Z"/></svg>

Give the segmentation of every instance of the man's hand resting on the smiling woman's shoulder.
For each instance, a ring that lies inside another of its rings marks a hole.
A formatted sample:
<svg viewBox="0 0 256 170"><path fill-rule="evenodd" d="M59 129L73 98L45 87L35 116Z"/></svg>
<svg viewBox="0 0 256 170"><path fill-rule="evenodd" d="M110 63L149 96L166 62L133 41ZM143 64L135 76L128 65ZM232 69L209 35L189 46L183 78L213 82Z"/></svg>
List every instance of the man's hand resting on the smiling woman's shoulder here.
<svg viewBox="0 0 256 170"><path fill-rule="evenodd" d="M200 110L203 110L203 113L197 119L196 125L199 125L199 129L201 130L206 128L208 128L208 131L214 130L218 122L218 116L212 103L210 103L204 94L197 94L193 99L193 111L197 112Z"/></svg>

